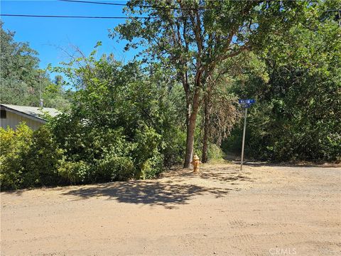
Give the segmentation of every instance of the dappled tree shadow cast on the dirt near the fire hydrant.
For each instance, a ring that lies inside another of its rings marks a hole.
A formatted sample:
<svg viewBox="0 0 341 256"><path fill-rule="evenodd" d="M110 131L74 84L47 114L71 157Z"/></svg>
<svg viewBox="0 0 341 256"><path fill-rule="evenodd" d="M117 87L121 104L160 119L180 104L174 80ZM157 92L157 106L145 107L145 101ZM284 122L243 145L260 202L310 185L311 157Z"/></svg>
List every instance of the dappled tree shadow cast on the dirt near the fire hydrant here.
<svg viewBox="0 0 341 256"><path fill-rule="evenodd" d="M196 178L194 182L191 178ZM210 180L210 186L202 184ZM126 181L104 183L96 186L80 186L63 193L67 196L75 196L78 199L92 197L106 197L107 200L115 200L121 203L147 204L150 206L165 206L174 208L174 205L187 204L191 198L210 194L220 198L229 191L239 188L226 188L226 186L214 186L217 181L251 181L247 176L238 172L224 172L222 170L204 170L199 174L193 174L188 170L169 171L163 178L148 181ZM212 183L213 181L213 183ZM213 184L213 186L212 186ZM233 183L230 183L233 185Z"/></svg>

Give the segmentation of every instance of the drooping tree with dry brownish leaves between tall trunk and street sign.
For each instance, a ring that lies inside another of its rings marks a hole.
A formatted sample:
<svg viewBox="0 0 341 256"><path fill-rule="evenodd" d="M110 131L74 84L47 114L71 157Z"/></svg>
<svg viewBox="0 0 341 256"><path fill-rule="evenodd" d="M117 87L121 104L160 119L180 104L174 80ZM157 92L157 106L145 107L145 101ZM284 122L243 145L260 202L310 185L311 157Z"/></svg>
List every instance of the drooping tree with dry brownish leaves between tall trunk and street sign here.
<svg viewBox="0 0 341 256"><path fill-rule="evenodd" d="M248 54L249 55L249 54ZM233 80L241 75L244 62L248 60L246 54L224 60L218 65L214 73L207 80L203 97L203 137L202 162L208 161L209 143L221 146L234 124L241 117L237 108L237 95L231 90Z"/></svg>

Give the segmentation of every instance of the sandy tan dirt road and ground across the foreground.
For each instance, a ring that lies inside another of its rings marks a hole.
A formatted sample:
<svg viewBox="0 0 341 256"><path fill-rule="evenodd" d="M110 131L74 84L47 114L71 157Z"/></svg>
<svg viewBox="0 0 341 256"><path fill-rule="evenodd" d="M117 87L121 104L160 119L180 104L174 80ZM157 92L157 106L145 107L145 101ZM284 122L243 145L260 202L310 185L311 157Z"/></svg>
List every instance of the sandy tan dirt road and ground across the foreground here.
<svg viewBox="0 0 341 256"><path fill-rule="evenodd" d="M1 193L1 255L341 255L341 169L205 165Z"/></svg>

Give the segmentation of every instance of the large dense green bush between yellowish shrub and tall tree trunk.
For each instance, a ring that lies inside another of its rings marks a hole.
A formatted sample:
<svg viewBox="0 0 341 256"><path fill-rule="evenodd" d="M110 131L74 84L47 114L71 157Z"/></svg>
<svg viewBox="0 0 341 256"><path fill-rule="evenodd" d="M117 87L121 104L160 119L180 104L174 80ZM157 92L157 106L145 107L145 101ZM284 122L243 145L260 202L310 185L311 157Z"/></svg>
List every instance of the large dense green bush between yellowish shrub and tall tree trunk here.
<svg viewBox="0 0 341 256"><path fill-rule="evenodd" d="M78 88L71 111L48 124L64 151L60 174L69 183L121 181L179 164L185 144L178 85L166 85L157 66L148 75L140 63L94 54L55 68Z"/></svg>

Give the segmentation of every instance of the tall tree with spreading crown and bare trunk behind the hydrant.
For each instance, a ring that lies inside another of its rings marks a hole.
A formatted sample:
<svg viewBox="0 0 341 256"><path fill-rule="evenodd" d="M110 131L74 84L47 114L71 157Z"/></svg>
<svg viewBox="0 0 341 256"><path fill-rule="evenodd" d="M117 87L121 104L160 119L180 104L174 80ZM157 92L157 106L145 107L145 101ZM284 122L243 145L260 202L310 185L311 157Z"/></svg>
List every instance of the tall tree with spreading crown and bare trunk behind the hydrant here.
<svg viewBox="0 0 341 256"><path fill-rule="evenodd" d="M144 46L149 60L175 70L176 79L183 84L187 110L185 168L193 156L202 92L217 65L261 46L271 33L286 31L312 6L308 1L129 1L129 20L115 28L121 39L130 42L126 49ZM136 15L148 18L142 21Z"/></svg>

